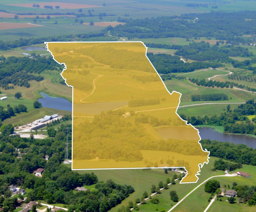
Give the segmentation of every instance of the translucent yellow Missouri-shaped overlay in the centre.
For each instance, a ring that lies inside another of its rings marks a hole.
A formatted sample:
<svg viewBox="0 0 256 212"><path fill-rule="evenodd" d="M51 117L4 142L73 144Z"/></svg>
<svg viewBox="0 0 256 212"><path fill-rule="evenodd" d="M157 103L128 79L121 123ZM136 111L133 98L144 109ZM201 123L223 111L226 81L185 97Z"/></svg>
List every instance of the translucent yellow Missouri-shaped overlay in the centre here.
<svg viewBox="0 0 256 212"><path fill-rule="evenodd" d="M142 42L49 42L73 87L72 169L185 167L196 182L208 163L198 130L176 111Z"/></svg>

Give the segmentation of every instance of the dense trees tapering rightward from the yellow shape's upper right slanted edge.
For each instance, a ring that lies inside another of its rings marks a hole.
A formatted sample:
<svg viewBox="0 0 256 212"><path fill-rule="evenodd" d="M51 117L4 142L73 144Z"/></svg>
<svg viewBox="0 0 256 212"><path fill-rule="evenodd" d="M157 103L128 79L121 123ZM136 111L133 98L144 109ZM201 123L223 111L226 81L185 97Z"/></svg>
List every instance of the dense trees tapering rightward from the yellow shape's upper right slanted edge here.
<svg viewBox="0 0 256 212"><path fill-rule="evenodd" d="M197 69L205 69L209 67L217 68L223 66L221 63L210 62L193 62L184 63L179 56L171 56L168 54L153 54L147 53L148 59L161 74L177 73L177 72L192 72Z"/></svg>

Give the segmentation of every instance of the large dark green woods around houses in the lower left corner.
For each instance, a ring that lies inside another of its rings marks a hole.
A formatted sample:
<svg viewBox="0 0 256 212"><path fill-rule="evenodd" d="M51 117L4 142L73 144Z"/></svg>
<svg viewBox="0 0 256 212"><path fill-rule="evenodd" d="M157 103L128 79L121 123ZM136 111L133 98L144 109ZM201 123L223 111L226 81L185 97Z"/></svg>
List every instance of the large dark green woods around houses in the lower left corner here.
<svg viewBox="0 0 256 212"><path fill-rule="evenodd" d="M9 129L8 125L3 126ZM13 130L13 126L10 127ZM106 212L134 191L133 187L116 184L112 180L98 182L95 174L78 174L64 165L67 127L71 140L71 125L61 125L54 137L44 140L0 134L0 195L5 197L0 204L3 203L7 211L13 211L18 205L17 198L9 194L9 185L31 189L25 202L45 200L49 204L62 203L72 212ZM48 161L44 159L46 155L50 156ZM45 169L42 177L33 174L38 168ZM95 184L95 188L73 192L77 186L91 184Z"/></svg>

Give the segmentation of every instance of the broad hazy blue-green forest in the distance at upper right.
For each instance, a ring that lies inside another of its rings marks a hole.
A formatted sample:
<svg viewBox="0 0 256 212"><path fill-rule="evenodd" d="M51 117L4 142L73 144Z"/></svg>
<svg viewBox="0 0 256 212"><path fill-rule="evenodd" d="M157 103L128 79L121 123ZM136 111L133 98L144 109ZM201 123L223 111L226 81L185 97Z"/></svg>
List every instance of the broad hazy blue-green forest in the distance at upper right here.
<svg viewBox="0 0 256 212"><path fill-rule="evenodd" d="M227 40L227 43L239 44L247 38L242 35L253 35L256 21L255 11L232 13L211 12L204 14L183 14L180 17L152 17L145 19L121 19L125 25L108 27L112 35L128 38L197 38L215 37ZM194 21L195 18L197 21ZM252 19L246 21L245 19ZM209 26L211 26L209 28Z"/></svg>

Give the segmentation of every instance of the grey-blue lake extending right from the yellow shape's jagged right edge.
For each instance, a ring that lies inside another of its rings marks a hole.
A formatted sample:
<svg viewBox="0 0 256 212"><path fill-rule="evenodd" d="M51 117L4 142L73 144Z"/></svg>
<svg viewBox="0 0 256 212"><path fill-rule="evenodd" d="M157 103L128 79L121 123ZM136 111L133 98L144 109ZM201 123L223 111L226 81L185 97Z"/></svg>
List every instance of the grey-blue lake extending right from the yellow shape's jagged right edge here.
<svg viewBox="0 0 256 212"><path fill-rule="evenodd" d="M228 134L214 131L209 127L197 127L200 132L201 139L210 139L223 142L232 142L235 144L245 144L246 146L256 149L256 138L238 134Z"/></svg>

